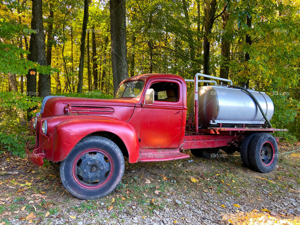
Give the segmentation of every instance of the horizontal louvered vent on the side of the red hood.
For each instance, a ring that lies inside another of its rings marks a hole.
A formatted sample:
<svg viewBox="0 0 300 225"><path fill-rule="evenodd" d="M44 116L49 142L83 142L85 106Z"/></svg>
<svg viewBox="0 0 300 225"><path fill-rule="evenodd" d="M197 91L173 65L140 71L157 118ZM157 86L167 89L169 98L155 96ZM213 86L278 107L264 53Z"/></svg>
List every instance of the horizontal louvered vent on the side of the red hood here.
<svg viewBox="0 0 300 225"><path fill-rule="evenodd" d="M71 104L72 114L88 114L88 115L103 115L103 114L113 114L114 109L105 106L95 106L95 105L76 105Z"/></svg>

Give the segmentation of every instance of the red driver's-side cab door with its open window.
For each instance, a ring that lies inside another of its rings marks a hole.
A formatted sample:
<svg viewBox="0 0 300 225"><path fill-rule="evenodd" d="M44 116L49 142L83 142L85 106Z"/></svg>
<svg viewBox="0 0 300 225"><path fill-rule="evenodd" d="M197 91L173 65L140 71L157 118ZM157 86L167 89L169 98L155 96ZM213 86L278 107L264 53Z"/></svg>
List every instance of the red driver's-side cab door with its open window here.
<svg viewBox="0 0 300 225"><path fill-rule="evenodd" d="M141 113L140 148L178 148L182 132L182 84L176 80L153 80L152 105L146 104ZM143 99L143 98L142 98Z"/></svg>

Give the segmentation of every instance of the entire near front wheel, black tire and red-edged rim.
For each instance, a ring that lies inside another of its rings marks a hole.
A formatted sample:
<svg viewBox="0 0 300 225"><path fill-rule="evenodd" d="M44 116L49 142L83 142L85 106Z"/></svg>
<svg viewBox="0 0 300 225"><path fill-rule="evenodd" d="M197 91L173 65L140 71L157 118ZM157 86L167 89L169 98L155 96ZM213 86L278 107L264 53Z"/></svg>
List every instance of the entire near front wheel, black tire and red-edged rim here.
<svg viewBox="0 0 300 225"><path fill-rule="evenodd" d="M81 140L60 164L63 186L75 197L97 199L118 186L125 162L120 148L111 140L91 136Z"/></svg>

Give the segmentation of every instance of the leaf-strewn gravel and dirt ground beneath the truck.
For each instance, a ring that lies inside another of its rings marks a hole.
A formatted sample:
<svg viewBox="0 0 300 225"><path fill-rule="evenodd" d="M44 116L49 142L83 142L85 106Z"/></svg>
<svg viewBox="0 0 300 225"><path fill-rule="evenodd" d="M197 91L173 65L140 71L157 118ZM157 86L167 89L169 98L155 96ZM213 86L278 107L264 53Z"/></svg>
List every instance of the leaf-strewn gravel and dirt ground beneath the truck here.
<svg viewBox="0 0 300 225"><path fill-rule="evenodd" d="M280 152L300 148L279 144ZM70 195L48 163L1 159L4 224L300 224L300 152L280 154L268 174L243 167L239 153L126 162L118 189L98 200ZM192 160L192 161L191 161Z"/></svg>

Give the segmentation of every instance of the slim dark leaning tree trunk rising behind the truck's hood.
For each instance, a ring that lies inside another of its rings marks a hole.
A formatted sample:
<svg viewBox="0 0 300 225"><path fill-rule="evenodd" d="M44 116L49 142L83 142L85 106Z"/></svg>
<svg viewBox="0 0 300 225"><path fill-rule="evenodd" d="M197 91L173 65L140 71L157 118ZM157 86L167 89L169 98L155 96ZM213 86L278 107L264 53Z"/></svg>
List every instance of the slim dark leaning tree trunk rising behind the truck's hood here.
<svg viewBox="0 0 300 225"><path fill-rule="evenodd" d="M82 33L80 38L80 58L79 58L77 93L82 93L84 48L85 48L85 36L87 34L87 27L88 27L88 0L84 0Z"/></svg>

